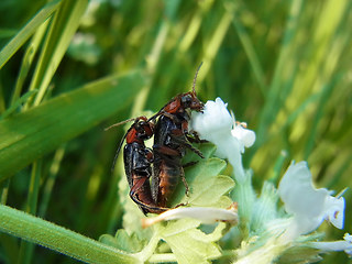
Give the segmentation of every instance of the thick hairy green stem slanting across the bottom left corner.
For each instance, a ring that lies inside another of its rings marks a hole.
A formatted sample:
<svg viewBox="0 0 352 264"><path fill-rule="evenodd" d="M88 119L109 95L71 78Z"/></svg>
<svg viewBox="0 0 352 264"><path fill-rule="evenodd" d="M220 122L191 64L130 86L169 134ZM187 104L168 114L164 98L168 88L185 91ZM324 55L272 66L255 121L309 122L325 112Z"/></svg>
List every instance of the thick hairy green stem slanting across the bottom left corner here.
<svg viewBox="0 0 352 264"><path fill-rule="evenodd" d="M141 263L122 251L2 205L0 205L0 231L86 263Z"/></svg>

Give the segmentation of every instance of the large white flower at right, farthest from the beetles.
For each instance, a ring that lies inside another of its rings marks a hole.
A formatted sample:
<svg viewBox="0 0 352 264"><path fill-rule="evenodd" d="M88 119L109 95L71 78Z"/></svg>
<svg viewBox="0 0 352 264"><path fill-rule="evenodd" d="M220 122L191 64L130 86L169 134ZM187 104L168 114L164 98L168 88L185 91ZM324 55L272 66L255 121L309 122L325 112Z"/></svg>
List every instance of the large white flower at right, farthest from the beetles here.
<svg viewBox="0 0 352 264"><path fill-rule="evenodd" d="M315 231L323 220L343 228L344 199L330 196L331 191L312 185L306 162L294 162L278 186L278 195L285 209L293 215L292 224L284 234L288 240Z"/></svg>

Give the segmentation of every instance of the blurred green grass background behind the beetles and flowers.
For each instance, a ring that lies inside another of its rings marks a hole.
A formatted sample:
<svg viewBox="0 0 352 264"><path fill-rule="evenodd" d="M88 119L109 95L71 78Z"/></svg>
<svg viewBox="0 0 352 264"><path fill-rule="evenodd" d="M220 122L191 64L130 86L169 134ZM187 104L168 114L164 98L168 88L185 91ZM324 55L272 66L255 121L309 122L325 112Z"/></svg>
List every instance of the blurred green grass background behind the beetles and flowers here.
<svg viewBox="0 0 352 264"><path fill-rule="evenodd" d="M1 1L0 47L46 2ZM237 120L256 132L244 164L254 172L257 191L265 179L277 183L292 160L308 161L317 187L339 193L351 186L351 6L348 0L89 1L45 100L133 70L143 73L145 85L109 119L98 120L58 151L43 153L36 163L37 213L42 210L45 219L95 239L113 234L121 224L117 183L123 175L112 175L110 168L123 129L103 128L142 110L157 111L175 95L189 91L200 62L198 97L221 97ZM20 75L30 41L0 69L2 113L19 79L24 95L41 63L43 42L26 76ZM25 209L31 172L26 166L6 182L9 206ZM351 232L350 189L344 197L345 232ZM330 240L343 237L344 231L323 228ZM18 240L1 234L0 244L0 260L15 260ZM322 263L345 262L344 253L337 253ZM33 263L76 261L37 246Z"/></svg>

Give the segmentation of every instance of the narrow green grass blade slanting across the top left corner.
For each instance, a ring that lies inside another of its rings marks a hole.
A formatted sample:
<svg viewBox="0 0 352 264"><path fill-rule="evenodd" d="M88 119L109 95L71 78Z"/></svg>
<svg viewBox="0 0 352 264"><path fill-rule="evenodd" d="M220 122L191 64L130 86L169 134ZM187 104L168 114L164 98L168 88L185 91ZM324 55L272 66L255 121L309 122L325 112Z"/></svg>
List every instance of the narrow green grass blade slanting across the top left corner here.
<svg viewBox="0 0 352 264"><path fill-rule="evenodd" d="M30 38L34 31L50 18L59 7L61 1L54 0L44 6L41 11L1 50L0 69L12 55Z"/></svg>

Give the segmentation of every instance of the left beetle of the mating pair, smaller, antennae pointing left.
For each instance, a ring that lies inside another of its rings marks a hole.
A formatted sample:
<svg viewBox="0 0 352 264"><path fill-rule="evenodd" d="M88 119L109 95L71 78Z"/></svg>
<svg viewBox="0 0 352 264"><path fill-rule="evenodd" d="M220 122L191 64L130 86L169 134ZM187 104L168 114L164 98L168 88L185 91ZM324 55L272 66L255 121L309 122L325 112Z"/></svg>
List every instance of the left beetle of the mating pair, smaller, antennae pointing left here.
<svg viewBox="0 0 352 264"><path fill-rule="evenodd" d="M147 121L146 117L139 117L113 124L106 130L130 121L134 122L124 134L118 147L112 169L116 165L123 141L125 140L127 144L123 148L123 162L124 172L130 186L130 197L140 207L144 215L147 212L161 213L166 211L167 208L156 206L153 200L150 178L152 175L151 164L154 155L152 150L146 147L144 143L144 141L153 136L154 123L152 121Z"/></svg>

